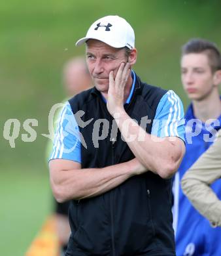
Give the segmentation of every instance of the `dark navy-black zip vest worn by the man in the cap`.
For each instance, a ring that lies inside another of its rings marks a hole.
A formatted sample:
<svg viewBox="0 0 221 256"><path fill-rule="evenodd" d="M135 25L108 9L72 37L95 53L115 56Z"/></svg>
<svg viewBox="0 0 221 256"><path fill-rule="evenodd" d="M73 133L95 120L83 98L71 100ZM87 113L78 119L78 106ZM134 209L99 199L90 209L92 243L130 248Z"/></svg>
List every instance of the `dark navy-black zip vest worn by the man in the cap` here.
<svg viewBox="0 0 221 256"><path fill-rule="evenodd" d="M153 120L160 99L167 91L147 85L136 77L127 114L140 123L148 115ZM75 114L85 112L82 120L93 119L80 133L87 148L81 147L82 169L103 168L135 158L118 131L115 140L107 131L106 139L95 148L92 140L93 124L97 119L109 120L105 102L93 88L69 100ZM146 125L150 133L151 123ZM116 129L117 131L117 129ZM127 179L116 188L93 198L72 200L69 207L71 237L66 255L175 255L173 217L171 213L171 179L161 179L151 171Z"/></svg>

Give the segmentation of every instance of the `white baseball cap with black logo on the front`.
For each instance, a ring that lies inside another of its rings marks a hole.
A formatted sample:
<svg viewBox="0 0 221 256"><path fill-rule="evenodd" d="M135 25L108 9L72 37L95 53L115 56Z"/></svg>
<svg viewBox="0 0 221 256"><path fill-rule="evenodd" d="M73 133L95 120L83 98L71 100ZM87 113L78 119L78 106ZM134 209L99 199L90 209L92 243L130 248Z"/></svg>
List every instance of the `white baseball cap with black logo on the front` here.
<svg viewBox="0 0 221 256"><path fill-rule="evenodd" d="M88 39L97 39L114 48L135 46L135 35L129 23L119 16L105 16L93 22L86 37L76 42L76 46L82 45Z"/></svg>

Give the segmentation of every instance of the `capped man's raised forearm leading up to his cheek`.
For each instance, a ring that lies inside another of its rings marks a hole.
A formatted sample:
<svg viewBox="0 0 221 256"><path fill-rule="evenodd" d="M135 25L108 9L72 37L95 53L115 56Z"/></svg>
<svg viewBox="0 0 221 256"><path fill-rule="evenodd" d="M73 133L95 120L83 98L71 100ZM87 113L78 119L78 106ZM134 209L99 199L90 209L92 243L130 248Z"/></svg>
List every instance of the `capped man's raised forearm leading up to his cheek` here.
<svg viewBox="0 0 221 256"><path fill-rule="evenodd" d="M146 133L124 111L116 116L116 123L133 154L147 169L163 178L169 178L177 171L184 154L182 143Z"/></svg>

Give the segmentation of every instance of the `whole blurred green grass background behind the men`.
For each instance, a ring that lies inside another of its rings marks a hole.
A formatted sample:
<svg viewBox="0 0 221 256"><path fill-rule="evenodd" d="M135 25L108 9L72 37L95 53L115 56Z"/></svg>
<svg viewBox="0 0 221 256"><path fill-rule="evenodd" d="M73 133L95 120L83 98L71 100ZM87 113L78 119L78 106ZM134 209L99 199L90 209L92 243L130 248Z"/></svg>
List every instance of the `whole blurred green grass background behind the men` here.
<svg viewBox="0 0 221 256"><path fill-rule="evenodd" d="M186 107L180 46L190 37L205 37L221 48L220 7L218 0L1 1L0 255L24 255L52 209L41 134L48 133L50 108L65 96L62 66L84 54L75 41L88 26L107 14L126 18L135 29L135 71L148 83L175 90ZM9 118L21 123L15 148L3 137ZM27 118L38 120L34 142L21 139Z"/></svg>

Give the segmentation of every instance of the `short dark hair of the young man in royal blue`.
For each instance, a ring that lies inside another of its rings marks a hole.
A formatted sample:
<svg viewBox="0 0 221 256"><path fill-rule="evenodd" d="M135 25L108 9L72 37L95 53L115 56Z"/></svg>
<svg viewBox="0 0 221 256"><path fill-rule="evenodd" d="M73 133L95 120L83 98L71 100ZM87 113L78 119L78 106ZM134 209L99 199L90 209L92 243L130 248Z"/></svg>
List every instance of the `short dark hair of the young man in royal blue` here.
<svg viewBox="0 0 221 256"><path fill-rule="evenodd" d="M190 39L190 41L182 46L182 56L189 53L207 54L212 72L221 70L221 55L215 43L205 39Z"/></svg>

